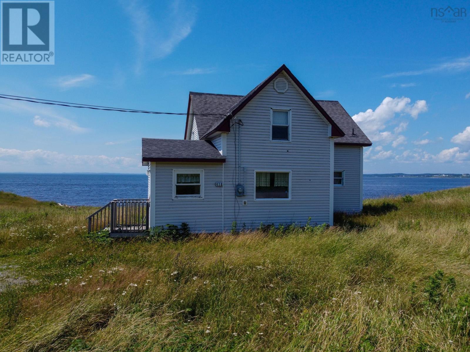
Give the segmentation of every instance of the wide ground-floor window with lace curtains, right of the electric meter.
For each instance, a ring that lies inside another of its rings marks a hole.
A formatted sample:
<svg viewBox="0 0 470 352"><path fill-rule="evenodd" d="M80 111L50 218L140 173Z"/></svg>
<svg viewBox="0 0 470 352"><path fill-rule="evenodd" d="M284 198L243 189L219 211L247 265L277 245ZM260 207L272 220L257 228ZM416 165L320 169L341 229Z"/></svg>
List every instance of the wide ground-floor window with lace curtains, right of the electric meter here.
<svg viewBox="0 0 470 352"><path fill-rule="evenodd" d="M256 172L256 199L289 199L289 172Z"/></svg>

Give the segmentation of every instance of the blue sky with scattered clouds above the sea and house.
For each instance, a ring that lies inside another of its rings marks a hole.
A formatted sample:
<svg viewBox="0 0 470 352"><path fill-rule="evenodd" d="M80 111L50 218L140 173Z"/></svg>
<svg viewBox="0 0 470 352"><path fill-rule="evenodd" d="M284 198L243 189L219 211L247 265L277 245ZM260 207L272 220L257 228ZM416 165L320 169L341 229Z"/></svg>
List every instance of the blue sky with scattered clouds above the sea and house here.
<svg viewBox="0 0 470 352"><path fill-rule="evenodd" d="M456 23L431 7L466 7ZM55 65L0 66L0 93L185 112L285 63L374 142L365 173L470 172L468 1L55 1ZM145 172L141 137L185 117L0 99L1 172Z"/></svg>

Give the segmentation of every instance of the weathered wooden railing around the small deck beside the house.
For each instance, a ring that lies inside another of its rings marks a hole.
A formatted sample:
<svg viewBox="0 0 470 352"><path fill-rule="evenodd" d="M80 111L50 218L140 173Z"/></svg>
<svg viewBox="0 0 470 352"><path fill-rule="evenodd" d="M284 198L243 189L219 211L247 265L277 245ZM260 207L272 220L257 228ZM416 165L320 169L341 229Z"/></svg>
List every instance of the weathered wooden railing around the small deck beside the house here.
<svg viewBox="0 0 470 352"><path fill-rule="evenodd" d="M149 199L113 199L87 217L88 233L144 232L149 229Z"/></svg>

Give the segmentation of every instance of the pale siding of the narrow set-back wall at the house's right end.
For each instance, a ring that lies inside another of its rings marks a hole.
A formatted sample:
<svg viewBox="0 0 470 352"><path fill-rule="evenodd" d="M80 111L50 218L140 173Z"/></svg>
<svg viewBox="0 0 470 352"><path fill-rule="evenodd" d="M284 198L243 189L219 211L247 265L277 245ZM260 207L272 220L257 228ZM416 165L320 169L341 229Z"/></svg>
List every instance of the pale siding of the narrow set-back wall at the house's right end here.
<svg viewBox="0 0 470 352"><path fill-rule="evenodd" d="M335 146L335 171L344 171L344 186L334 187L334 211L360 211L360 146Z"/></svg>

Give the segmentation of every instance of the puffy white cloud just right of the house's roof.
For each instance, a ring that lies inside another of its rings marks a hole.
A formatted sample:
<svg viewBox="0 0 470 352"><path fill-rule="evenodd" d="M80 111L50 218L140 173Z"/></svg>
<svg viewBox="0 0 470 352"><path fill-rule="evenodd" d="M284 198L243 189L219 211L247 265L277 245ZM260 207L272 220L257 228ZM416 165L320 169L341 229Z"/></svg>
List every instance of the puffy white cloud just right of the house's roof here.
<svg viewBox="0 0 470 352"><path fill-rule="evenodd" d="M408 114L414 119L419 114L427 111L428 107L425 100L417 100L411 104L411 99L406 97L390 98L386 97L375 110L368 109L352 116L352 119L359 125L366 135L373 141L382 141L385 144L396 139L390 131L384 130L388 124L393 122L396 114ZM397 127L398 131L405 129L407 124L401 124ZM399 133L399 132L396 133Z"/></svg>

